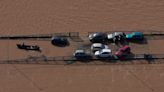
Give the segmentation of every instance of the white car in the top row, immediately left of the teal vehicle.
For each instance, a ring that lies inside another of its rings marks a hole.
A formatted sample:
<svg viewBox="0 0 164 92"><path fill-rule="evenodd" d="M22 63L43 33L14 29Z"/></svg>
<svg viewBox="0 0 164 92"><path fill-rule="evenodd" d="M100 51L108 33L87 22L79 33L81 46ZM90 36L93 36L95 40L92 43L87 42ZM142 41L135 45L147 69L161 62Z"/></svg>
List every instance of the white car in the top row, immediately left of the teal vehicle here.
<svg viewBox="0 0 164 92"><path fill-rule="evenodd" d="M121 40L122 38L125 38L125 37L126 37L126 35L123 32L114 32L112 34L107 35L107 38L110 41L114 41L115 39Z"/></svg>

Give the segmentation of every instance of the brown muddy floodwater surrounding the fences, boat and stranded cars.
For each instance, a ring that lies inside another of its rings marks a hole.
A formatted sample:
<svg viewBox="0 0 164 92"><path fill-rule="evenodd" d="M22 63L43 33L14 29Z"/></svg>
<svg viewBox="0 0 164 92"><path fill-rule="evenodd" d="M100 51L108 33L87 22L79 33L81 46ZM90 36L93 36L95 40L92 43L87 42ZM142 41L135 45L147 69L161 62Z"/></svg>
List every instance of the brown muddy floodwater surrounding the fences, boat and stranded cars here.
<svg viewBox="0 0 164 92"><path fill-rule="evenodd" d="M0 0L0 36L55 32L164 31L164 0ZM43 52L23 51L17 43ZM163 54L163 40L133 51ZM76 44L0 40L0 60L72 55ZM144 51L145 50L145 51ZM0 64L1 92L163 92L164 65Z"/></svg>

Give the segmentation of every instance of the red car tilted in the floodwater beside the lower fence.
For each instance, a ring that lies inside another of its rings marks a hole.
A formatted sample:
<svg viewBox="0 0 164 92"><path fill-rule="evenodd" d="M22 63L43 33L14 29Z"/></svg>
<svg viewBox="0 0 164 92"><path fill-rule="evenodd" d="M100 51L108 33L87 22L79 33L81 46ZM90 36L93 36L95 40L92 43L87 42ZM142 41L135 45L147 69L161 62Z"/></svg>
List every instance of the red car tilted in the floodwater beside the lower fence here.
<svg viewBox="0 0 164 92"><path fill-rule="evenodd" d="M126 45L120 48L118 51L116 51L115 55L120 59L124 59L126 55L130 54L130 51L131 51L130 47Z"/></svg>

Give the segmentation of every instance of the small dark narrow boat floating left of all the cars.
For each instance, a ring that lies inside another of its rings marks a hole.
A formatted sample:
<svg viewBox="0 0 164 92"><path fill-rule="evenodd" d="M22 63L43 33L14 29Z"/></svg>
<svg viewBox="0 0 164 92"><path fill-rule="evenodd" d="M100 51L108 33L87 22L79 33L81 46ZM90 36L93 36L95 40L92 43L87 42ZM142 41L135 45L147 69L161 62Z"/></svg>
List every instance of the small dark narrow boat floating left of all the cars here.
<svg viewBox="0 0 164 92"><path fill-rule="evenodd" d="M24 50L35 50L35 51L40 51L40 47L37 45L25 45L23 44L17 44L17 47L19 49L24 49Z"/></svg>

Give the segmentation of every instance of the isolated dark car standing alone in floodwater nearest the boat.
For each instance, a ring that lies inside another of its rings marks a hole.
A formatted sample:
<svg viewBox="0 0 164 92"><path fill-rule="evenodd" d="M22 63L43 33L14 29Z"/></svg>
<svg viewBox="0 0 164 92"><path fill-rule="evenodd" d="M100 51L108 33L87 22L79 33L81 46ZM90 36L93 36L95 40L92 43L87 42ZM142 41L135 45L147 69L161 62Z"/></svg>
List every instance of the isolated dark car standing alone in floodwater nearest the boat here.
<svg viewBox="0 0 164 92"><path fill-rule="evenodd" d="M51 43L53 45L61 46L61 47L69 45L69 41L68 41L67 38L58 37L58 36L53 37L52 40L51 40Z"/></svg>

